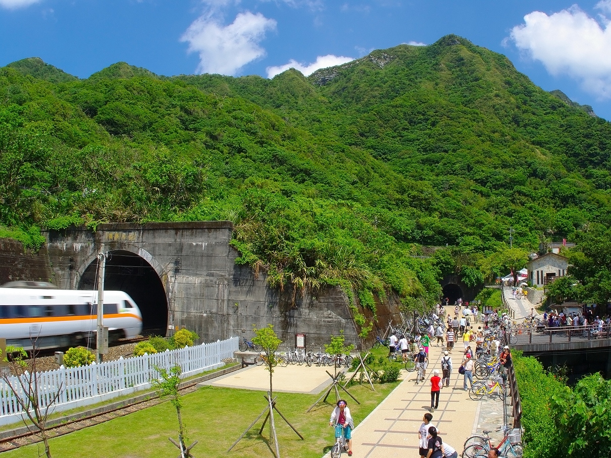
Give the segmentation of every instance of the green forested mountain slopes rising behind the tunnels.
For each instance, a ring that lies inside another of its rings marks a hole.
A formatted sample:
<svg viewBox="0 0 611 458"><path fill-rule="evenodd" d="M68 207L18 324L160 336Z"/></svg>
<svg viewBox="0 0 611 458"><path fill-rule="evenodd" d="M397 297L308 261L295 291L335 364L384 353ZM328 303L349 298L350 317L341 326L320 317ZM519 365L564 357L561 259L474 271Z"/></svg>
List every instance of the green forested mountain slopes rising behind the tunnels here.
<svg viewBox="0 0 611 458"><path fill-rule="evenodd" d="M364 304L390 289L409 304L434 300L444 272L498 271L485 261L510 227L535 250L611 225L610 123L454 35L308 78L119 63L59 79L16 64L0 69L13 234L230 219L241 261L272 285L351 283ZM446 244L452 261L413 257Z"/></svg>

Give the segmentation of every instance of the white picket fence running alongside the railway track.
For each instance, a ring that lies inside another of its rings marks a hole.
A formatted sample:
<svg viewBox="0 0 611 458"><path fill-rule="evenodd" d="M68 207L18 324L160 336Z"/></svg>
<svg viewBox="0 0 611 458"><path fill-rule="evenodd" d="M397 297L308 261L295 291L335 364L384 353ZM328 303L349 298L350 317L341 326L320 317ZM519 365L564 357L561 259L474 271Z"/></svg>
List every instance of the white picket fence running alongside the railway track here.
<svg viewBox="0 0 611 458"><path fill-rule="evenodd" d="M59 392L59 400L52 405L53 412L95 404L106 399L150 388L150 380L159 378L156 368L169 370L180 365L182 376L189 377L223 365L222 360L233 358L238 350L237 337L214 343L165 351L137 358L119 358L99 365L78 368L61 366L54 371L37 374L38 402L45 406ZM21 376L26 381L25 376ZM20 387L17 377L9 378L13 387ZM20 388L20 397L24 396ZM0 425L20 421L24 413L16 401L15 393L0 383Z"/></svg>

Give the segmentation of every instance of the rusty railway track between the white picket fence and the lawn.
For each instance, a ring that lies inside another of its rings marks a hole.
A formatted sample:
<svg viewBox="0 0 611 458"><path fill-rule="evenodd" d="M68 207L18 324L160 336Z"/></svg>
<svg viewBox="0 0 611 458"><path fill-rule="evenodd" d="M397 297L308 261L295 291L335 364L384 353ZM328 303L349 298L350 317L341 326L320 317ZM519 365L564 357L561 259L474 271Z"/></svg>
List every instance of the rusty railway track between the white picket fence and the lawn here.
<svg viewBox="0 0 611 458"><path fill-rule="evenodd" d="M196 385L199 382L199 379L186 382L185 386L180 388L180 393L188 394L192 393L193 391L196 391ZM96 424L104 423L105 421L114 420L114 418L119 418L120 416L129 415L130 413L147 409L148 407L161 404L162 402L166 402L166 400L159 398L159 396L156 394L152 394L150 398L144 399L142 401L131 402L130 404L125 404L114 409L105 410L104 412L96 413L95 415L87 415L82 418L78 418L77 420L57 423L56 425L49 426L46 430L46 433L48 434L49 438L59 437L65 434L70 434L71 432L85 429L89 426L95 426ZM16 434L1 439L0 453L9 450L14 450L16 448L20 448L26 445L42 442L42 438L40 438L39 434L40 433L36 434L34 432L26 432L23 434Z"/></svg>

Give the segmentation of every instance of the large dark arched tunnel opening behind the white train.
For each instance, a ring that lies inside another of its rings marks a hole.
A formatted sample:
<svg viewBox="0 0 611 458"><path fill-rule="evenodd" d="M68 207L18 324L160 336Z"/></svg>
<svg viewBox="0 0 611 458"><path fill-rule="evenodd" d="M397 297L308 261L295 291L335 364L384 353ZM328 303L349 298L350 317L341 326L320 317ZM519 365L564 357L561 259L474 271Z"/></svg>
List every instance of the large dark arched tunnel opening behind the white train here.
<svg viewBox="0 0 611 458"><path fill-rule="evenodd" d="M95 289L98 261L87 266L78 289ZM125 291L142 313L142 334L166 335L166 291L155 269L140 256L123 250L111 252L106 260L104 289Z"/></svg>

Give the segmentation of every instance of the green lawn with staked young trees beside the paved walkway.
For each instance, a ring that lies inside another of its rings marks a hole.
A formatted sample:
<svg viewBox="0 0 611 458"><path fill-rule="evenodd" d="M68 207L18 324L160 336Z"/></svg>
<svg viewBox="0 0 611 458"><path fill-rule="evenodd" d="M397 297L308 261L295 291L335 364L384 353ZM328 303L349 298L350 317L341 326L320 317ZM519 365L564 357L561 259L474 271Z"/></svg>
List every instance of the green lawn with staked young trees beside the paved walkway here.
<svg viewBox="0 0 611 458"><path fill-rule="evenodd" d="M348 399L356 424L359 424L379 402L384 399L397 383L375 385L371 391L368 385L349 388L360 405ZM183 420L188 429L190 442L199 443L193 449L197 458L221 457L246 430L249 424L265 408L266 400L262 391L235 390L232 388L203 387L184 399ZM332 428L328 426L334 395L331 402L320 403L312 410L305 411L320 394L277 393L277 407L304 436L300 440L280 416L276 417L276 431L283 457L316 457L326 453L334 442ZM243 440L232 450L235 457L261 458L273 456L268 443L269 427L258 435L262 420L251 429ZM176 412L169 402L150 407L141 412L92 426L51 440L51 453L61 458L82 457L175 457L178 449L168 437L177 438ZM42 447L40 451L43 452ZM3 454L3 458L38 457L38 446L28 446Z"/></svg>

